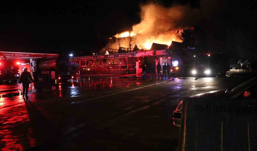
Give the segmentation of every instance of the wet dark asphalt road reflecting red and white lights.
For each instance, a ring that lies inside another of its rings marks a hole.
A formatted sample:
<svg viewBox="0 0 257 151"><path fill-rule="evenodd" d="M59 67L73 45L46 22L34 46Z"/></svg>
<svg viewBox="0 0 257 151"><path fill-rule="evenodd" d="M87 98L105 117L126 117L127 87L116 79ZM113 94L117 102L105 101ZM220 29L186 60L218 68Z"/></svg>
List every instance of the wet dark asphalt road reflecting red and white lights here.
<svg viewBox="0 0 257 151"><path fill-rule="evenodd" d="M175 150L172 111L183 97L235 87L240 76L86 77L68 83L0 85L2 150Z"/></svg>

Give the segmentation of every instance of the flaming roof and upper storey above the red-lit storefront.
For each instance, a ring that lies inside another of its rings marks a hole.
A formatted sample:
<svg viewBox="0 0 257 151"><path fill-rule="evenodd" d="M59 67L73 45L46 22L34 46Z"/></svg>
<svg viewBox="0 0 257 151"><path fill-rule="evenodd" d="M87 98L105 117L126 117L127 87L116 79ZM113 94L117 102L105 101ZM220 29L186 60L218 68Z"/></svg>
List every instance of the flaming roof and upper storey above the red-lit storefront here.
<svg viewBox="0 0 257 151"><path fill-rule="evenodd" d="M183 32L183 30L189 29L193 30L194 28L175 28L172 31L151 32L148 34L134 34L133 32L126 31L109 38L107 45L99 53L105 55L109 53L119 53L120 47L126 48L126 51L123 51L123 53L133 52L137 49L150 50L153 43L167 45L168 48L171 45L172 41L182 42L182 40L180 39L181 33ZM131 48L129 47L130 45ZM135 47L137 49L134 49Z"/></svg>

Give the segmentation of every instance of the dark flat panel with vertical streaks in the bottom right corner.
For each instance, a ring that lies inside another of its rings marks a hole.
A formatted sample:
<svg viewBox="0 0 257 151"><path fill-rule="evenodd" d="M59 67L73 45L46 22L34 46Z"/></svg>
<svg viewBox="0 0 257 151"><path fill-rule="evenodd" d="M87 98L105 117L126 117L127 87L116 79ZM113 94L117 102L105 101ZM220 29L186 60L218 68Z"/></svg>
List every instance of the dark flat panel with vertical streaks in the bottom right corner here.
<svg viewBox="0 0 257 151"><path fill-rule="evenodd" d="M256 99L183 100L179 151L257 150Z"/></svg>

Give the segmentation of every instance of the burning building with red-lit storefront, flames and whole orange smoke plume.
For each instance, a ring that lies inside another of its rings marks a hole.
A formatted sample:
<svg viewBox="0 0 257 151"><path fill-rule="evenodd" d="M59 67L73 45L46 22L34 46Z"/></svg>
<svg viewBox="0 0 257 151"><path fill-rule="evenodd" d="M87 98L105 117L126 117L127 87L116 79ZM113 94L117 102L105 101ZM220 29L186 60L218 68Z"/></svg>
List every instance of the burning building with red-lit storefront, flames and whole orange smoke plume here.
<svg viewBox="0 0 257 151"><path fill-rule="evenodd" d="M181 42L181 33L194 29L185 27L190 24L181 24L190 9L180 5L166 8L156 3L142 5L141 22L132 30L108 38L100 55L74 57L72 61L79 64L84 75L140 74L143 65L171 64L168 49L172 41Z"/></svg>

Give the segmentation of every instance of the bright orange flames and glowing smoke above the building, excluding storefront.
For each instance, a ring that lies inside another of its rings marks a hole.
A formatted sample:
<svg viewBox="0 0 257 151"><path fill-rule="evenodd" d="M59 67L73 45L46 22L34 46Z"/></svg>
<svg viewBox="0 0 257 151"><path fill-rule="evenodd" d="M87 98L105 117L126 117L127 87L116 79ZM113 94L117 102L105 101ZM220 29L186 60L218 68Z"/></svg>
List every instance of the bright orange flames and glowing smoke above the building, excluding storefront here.
<svg viewBox="0 0 257 151"><path fill-rule="evenodd" d="M141 22L133 25L131 31L114 35L120 43L117 45L117 41L110 40L108 48L119 49L118 46L128 48L127 37L129 36L135 37L135 44L139 49L151 49L152 43L164 44L168 47L172 41L181 42L173 29L183 27L181 22L185 20L184 16L188 16L186 12L189 10L192 11L190 7L181 5L174 5L170 8L156 3L141 5ZM103 48L102 52L106 48Z"/></svg>

